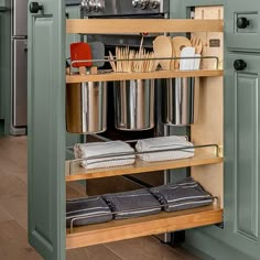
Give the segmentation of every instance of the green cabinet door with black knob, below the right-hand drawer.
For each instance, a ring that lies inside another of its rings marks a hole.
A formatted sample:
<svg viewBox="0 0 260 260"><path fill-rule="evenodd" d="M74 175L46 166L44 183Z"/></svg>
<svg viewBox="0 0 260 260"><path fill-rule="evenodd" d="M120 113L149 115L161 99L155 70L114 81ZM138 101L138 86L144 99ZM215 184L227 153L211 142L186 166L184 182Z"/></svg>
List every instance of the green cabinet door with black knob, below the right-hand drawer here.
<svg viewBox="0 0 260 260"><path fill-rule="evenodd" d="M237 69L247 67L236 71L235 63ZM225 229L231 246L254 257L260 256L259 83L260 55L226 55Z"/></svg>

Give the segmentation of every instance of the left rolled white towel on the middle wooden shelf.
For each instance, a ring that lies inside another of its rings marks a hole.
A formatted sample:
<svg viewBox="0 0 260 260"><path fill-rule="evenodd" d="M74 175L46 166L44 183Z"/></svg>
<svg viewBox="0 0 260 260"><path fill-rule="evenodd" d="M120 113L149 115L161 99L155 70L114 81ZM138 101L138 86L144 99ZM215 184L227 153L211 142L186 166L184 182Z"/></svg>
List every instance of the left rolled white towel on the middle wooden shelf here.
<svg viewBox="0 0 260 260"><path fill-rule="evenodd" d="M120 155L121 153L133 152L133 149L128 143L122 141L77 143L74 145L75 158L86 159L80 162L80 165L86 169L112 167L133 164L136 161L134 154ZM120 156L109 156L111 154L117 154ZM89 159L93 156L97 158Z"/></svg>

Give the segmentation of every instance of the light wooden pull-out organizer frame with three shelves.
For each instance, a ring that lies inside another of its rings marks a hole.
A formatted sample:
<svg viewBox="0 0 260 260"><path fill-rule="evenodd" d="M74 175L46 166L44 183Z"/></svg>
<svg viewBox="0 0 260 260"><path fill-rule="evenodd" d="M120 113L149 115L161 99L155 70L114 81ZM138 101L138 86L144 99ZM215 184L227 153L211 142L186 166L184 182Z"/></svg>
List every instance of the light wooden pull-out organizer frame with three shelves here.
<svg viewBox="0 0 260 260"><path fill-rule="evenodd" d="M109 34L140 32L223 32L220 20L67 20L67 33ZM147 78L196 77L199 91L199 113L196 123L191 128L191 139L195 147L195 156L191 159L148 163L137 160L136 164L123 167L84 170L78 162L66 162L66 182L109 177L116 175L155 172L191 167L192 176L205 188L217 196L217 205L199 207L175 213L124 220L112 220L106 224L89 225L67 230L66 248L117 241L148 235L183 230L223 221L223 71L156 71L152 73L108 73L97 75L66 75L66 84L83 82L108 82ZM199 86L198 86L199 85ZM217 147L217 149L216 149ZM217 152L216 152L217 150ZM155 174L155 173L154 173Z"/></svg>

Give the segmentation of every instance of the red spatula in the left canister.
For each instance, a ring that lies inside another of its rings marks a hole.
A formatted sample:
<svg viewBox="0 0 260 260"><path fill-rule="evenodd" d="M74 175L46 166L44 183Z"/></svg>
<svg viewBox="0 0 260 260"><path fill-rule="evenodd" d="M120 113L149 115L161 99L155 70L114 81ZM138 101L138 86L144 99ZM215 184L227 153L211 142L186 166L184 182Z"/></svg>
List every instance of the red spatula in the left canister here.
<svg viewBox="0 0 260 260"><path fill-rule="evenodd" d="M79 68L79 74L85 74L86 73L86 67L91 66L91 61L84 62L86 59L91 59L91 50L89 44L87 43L72 43L71 44L71 59L72 59L72 65L73 67L78 67ZM78 62L75 62L78 61ZM80 62L83 61L83 62ZM74 63L75 62L75 63Z"/></svg>

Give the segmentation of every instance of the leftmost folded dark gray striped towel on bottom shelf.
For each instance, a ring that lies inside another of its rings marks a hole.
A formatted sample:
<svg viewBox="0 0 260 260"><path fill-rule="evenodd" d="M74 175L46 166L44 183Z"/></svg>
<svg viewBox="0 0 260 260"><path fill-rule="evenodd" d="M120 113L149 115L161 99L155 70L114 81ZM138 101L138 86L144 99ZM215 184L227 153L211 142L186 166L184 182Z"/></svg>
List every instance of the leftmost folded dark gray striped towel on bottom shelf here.
<svg viewBox="0 0 260 260"><path fill-rule="evenodd" d="M100 196L77 198L66 202L66 226L78 227L106 223L112 219L109 206ZM72 223L73 221L73 223Z"/></svg>

